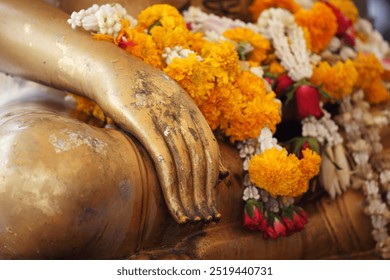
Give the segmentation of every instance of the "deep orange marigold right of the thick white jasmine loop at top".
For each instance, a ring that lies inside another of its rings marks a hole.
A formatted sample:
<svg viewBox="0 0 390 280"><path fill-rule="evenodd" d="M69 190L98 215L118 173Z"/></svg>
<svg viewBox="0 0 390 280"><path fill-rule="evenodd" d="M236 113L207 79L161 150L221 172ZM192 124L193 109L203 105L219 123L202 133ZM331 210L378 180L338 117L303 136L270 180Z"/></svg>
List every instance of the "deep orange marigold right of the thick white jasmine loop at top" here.
<svg viewBox="0 0 390 280"><path fill-rule="evenodd" d="M315 53L326 49L337 32L336 16L321 2L316 2L310 10L300 9L295 21L309 30L311 50Z"/></svg>

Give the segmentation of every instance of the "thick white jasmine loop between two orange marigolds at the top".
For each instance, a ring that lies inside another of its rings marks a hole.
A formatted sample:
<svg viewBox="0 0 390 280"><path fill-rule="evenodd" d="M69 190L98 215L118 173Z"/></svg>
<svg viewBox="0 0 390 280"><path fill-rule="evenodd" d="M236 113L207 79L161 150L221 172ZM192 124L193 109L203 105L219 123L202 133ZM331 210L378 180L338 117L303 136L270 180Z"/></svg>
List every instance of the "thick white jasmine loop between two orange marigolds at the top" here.
<svg viewBox="0 0 390 280"><path fill-rule="evenodd" d="M287 10L267 9L261 13L257 25L263 36L272 42L276 56L294 81L310 78L313 68L302 28Z"/></svg>

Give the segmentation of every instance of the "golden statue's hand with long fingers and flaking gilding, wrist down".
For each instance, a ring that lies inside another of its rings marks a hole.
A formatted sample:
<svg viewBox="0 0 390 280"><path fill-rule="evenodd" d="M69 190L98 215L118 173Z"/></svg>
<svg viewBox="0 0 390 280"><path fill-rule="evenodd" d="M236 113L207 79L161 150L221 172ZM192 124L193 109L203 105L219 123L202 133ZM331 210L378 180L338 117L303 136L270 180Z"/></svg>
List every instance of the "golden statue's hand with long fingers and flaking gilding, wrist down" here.
<svg viewBox="0 0 390 280"><path fill-rule="evenodd" d="M147 149L177 222L219 219L219 149L203 115L163 72L132 56L117 64L109 72L111 86L96 101Z"/></svg>

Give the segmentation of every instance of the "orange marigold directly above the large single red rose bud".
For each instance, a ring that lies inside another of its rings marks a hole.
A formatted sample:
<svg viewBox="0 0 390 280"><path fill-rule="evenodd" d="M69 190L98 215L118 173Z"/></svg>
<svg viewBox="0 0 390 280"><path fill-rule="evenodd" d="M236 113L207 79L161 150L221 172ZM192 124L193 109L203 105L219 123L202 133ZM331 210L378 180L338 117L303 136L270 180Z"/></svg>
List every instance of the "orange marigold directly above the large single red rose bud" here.
<svg viewBox="0 0 390 280"><path fill-rule="evenodd" d="M358 72L352 61L338 61L330 66L322 61L313 69L310 81L314 85L323 85L323 89L333 98L341 99L352 93L358 79Z"/></svg>

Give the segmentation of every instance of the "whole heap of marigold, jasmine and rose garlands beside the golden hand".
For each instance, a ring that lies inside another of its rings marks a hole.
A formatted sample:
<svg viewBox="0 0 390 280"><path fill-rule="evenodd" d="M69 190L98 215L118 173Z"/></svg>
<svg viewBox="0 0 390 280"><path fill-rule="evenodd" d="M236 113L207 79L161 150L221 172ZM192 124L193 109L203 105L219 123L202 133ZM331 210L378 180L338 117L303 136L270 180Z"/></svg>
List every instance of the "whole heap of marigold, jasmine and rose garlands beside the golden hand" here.
<svg viewBox="0 0 390 280"><path fill-rule="evenodd" d="M235 143L243 159L244 226L262 232L264 238L278 238L304 228L307 216L294 205L294 197L307 192L318 173L320 185L332 198L354 185L356 166L350 166L344 146L348 151L360 146L344 143L334 116L324 106L346 104L357 89L372 104L387 101L387 72L381 60L389 48L375 32L370 34L372 27L359 19L349 0L254 1L250 10L256 24L195 7L181 15L169 5L154 5L137 21L111 8L116 13L113 31L118 23L120 30L110 33L99 25L89 30L96 32L96 39L115 43L176 80L210 127ZM92 10L80 13L70 19L73 28L94 16ZM369 49L374 54L363 54ZM365 83L368 78L374 82ZM345 116L352 114L348 108ZM367 112L353 114L363 122ZM282 116L301 123L301 136L286 146L291 153L273 136ZM362 128L358 121L339 125L347 135L356 136ZM369 134L373 138L368 142L378 147L378 133L370 130L365 135ZM375 151L372 157L378 158L379 148ZM366 158L355 155L357 161ZM390 164L380 162L381 167L373 167L379 174L374 177L387 186ZM372 194L372 178L363 180ZM381 219L373 220L374 238L387 258L390 241Z"/></svg>

